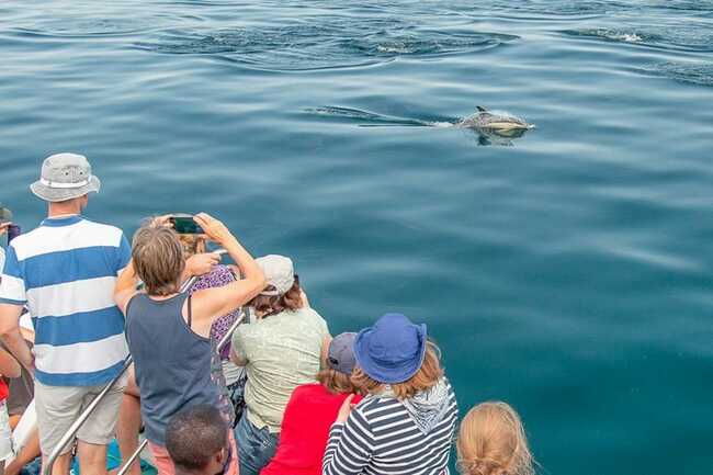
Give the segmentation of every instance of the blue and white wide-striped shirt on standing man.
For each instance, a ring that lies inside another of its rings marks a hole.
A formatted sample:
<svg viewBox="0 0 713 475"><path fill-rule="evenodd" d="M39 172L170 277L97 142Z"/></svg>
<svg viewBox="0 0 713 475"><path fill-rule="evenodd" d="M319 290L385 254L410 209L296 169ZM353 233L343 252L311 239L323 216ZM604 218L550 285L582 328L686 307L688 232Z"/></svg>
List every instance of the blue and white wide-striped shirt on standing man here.
<svg viewBox="0 0 713 475"><path fill-rule="evenodd" d="M12 240L0 303L33 315L37 381L93 386L118 374L128 350L114 284L129 259L121 229L78 215L47 218Z"/></svg>

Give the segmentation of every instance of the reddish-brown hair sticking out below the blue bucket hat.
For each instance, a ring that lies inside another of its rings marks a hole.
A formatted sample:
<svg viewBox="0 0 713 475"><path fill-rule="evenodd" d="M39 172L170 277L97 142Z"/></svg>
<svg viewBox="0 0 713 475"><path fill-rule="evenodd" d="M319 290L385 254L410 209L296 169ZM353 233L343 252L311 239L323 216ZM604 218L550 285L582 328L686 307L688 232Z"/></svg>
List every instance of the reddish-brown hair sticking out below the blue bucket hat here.
<svg viewBox="0 0 713 475"><path fill-rule="evenodd" d="M403 383L392 384L392 391L398 399L414 397L420 391L430 389L443 377L443 369L440 361L441 351L432 341L426 342L426 355L421 367L409 380ZM370 394L378 394L384 389L384 383L373 380L360 367L354 369L352 382L362 391Z"/></svg>

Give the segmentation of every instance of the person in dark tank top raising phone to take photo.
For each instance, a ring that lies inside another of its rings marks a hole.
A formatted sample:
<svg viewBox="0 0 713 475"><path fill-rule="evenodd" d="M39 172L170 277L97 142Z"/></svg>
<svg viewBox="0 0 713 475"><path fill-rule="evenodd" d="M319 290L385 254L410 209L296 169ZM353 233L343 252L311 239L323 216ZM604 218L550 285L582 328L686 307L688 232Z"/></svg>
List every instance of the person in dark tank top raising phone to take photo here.
<svg viewBox="0 0 713 475"><path fill-rule="evenodd" d="M211 326L245 305L265 285L252 257L223 223L201 213L194 217L204 233L225 248L245 279L222 287L180 293L185 259L178 235L160 225L134 235L132 262L116 283L116 304L126 316L126 339L134 358L146 438L160 475L173 475L166 451L166 425L179 410L199 404L217 406L219 389L211 378ZM134 289L140 278L146 292ZM237 454L231 438L233 454ZM233 456L226 474L237 473Z"/></svg>

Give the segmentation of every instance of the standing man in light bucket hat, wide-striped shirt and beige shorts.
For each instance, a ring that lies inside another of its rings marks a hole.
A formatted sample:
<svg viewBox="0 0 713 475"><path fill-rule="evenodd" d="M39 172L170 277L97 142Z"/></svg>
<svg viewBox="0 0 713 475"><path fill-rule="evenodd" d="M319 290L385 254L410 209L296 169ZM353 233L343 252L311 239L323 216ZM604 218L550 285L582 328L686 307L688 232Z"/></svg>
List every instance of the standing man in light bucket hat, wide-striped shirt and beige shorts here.
<svg viewBox="0 0 713 475"><path fill-rule="evenodd" d="M89 193L99 188L86 157L57 154L45 159L39 180L30 189L47 202L47 218L13 239L2 269L0 336L34 372L44 463L127 357L124 317L113 292L131 247L121 229L81 215ZM19 330L23 306L34 317L33 352ZM115 384L77 432L82 475L106 474L106 444L113 438L122 391L123 383ZM68 473L70 449L71 444L63 448L55 475Z"/></svg>

